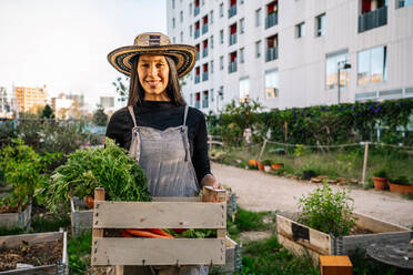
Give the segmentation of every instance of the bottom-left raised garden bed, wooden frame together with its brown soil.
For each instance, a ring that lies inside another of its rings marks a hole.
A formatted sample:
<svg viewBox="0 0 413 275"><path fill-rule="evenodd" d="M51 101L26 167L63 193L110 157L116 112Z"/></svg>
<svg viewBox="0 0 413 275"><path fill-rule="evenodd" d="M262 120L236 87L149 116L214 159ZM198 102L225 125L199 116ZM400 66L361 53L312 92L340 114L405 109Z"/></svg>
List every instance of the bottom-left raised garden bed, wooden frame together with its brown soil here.
<svg viewBox="0 0 413 275"><path fill-rule="evenodd" d="M68 274L67 233L0 236L0 275ZM17 263L28 264L17 268Z"/></svg>

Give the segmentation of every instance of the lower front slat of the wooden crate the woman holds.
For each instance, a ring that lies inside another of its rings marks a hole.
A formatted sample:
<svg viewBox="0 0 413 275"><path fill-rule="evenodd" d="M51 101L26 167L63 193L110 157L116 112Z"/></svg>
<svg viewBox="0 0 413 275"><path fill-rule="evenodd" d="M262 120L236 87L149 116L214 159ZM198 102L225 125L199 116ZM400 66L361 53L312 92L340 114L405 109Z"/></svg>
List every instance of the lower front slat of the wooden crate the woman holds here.
<svg viewBox="0 0 413 275"><path fill-rule="evenodd" d="M93 238L92 265L224 265L221 238Z"/></svg>

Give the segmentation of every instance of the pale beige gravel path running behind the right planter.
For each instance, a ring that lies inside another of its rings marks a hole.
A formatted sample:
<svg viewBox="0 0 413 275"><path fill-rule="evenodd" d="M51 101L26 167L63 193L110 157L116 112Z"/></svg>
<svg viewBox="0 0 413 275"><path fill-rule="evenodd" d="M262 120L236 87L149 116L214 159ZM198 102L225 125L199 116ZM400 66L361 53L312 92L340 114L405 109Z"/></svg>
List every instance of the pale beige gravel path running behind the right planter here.
<svg viewBox="0 0 413 275"><path fill-rule="evenodd" d="M211 163L212 173L235 192L236 202L251 211L295 212L296 201L320 184L269 175L263 172ZM334 186L335 187L335 186ZM397 194L353 187L355 211L386 222L413 227L413 201Z"/></svg>

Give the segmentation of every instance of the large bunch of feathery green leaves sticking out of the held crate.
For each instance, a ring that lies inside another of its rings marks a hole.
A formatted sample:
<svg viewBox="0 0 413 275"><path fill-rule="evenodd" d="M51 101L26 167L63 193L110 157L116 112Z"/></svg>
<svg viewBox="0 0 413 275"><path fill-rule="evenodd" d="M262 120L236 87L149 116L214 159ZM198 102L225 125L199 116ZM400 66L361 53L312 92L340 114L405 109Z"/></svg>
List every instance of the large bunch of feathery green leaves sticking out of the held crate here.
<svg viewBox="0 0 413 275"><path fill-rule="evenodd" d="M48 206L54 211L73 196L93 195L95 187L103 187L110 201L151 200L143 170L110 139L104 149L87 147L71 153L51 179Z"/></svg>

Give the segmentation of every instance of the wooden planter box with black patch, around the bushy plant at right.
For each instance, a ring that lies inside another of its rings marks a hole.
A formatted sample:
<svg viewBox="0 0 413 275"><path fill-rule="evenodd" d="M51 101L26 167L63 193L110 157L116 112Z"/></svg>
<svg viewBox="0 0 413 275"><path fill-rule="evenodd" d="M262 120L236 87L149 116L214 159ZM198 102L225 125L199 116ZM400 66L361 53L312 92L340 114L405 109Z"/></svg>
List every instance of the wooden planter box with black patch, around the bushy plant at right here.
<svg viewBox="0 0 413 275"><path fill-rule="evenodd" d="M334 237L300 224L285 215L276 215L276 235L280 243L294 254L310 254L314 261L320 255L349 255L357 247L365 249L371 243L392 238L395 242L410 242L411 231L401 225L387 223L372 216L354 213L357 227L372 234Z"/></svg>

